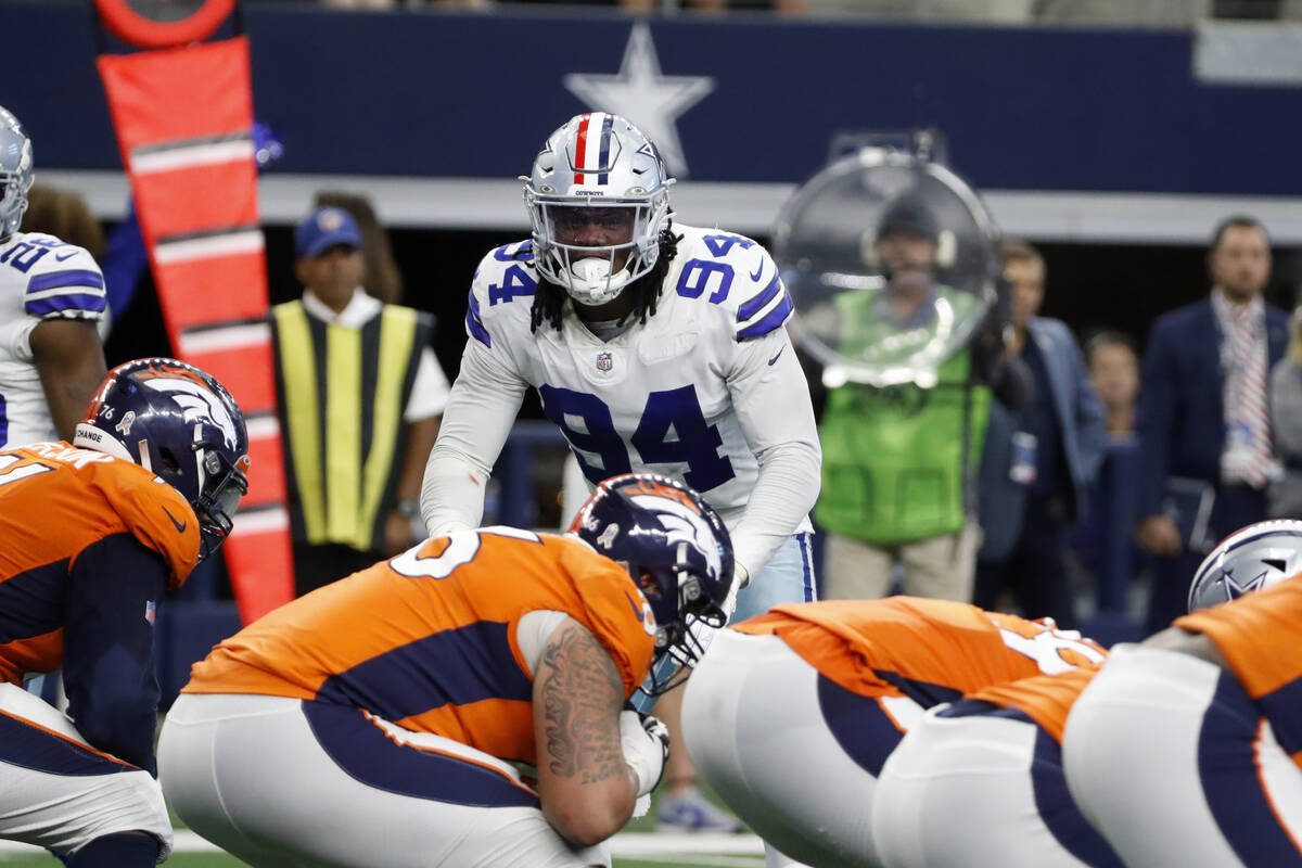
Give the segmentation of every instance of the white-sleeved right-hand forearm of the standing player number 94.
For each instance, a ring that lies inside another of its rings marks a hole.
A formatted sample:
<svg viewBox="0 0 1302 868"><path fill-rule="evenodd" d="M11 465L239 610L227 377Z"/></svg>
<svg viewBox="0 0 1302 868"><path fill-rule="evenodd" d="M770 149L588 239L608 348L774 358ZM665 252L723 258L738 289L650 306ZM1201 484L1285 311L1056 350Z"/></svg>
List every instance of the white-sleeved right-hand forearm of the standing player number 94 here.
<svg viewBox="0 0 1302 868"><path fill-rule="evenodd" d="M823 453L816 440L794 440L767 450L759 462L759 479L732 532L733 554L753 576L814 508Z"/></svg>

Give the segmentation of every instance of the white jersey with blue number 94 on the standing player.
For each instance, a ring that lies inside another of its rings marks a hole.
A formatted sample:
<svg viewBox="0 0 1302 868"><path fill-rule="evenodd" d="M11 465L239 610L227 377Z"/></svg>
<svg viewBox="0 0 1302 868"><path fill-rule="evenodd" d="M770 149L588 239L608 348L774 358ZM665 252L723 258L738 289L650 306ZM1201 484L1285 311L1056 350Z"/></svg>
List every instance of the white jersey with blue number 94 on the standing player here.
<svg viewBox="0 0 1302 868"><path fill-rule="evenodd" d="M792 301L768 251L750 238L673 230L682 241L655 315L608 341L569 305L561 331L543 323L533 332L533 243L490 252L470 290L470 340L453 394L458 387L480 398L505 390L518 403L533 385L590 484L620 472L660 472L736 519L755 485L758 454L818 440L812 414L784 400L802 397L809 406L783 328ZM500 442L487 440L478 445L493 450L486 455L491 466Z"/></svg>

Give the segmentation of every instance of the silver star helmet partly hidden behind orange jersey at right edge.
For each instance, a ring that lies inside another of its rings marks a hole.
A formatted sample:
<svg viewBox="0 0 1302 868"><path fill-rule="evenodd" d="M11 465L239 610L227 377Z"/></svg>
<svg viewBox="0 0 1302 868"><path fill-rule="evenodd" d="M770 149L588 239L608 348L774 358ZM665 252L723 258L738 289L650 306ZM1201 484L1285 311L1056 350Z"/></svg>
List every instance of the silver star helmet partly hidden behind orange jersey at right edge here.
<svg viewBox="0 0 1302 868"><path fill-rule="evenodd" d="M1212 549L1189 586L1189 610L1229 603L1302 573L1302 522L1258 522Z"/></svg>

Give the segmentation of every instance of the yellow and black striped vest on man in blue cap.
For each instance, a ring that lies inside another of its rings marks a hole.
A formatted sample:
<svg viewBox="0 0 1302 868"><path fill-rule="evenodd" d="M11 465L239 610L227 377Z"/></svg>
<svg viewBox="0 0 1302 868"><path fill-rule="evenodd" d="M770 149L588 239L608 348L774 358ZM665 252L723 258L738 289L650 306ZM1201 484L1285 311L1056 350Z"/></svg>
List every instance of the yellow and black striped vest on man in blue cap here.
<svg viewBox="0 0 1302 868"><path fill-rule="evenodd" d="M271 308L293 539L383 550L406 409L434 320L385 305L361 329Z"/></svg>

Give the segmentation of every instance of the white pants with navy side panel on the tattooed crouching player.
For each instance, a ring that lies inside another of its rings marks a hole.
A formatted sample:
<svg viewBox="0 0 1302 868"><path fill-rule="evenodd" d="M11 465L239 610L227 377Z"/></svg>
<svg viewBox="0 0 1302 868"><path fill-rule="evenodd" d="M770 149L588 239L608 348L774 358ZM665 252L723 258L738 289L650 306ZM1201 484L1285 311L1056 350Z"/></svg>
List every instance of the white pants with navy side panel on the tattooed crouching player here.
<svg viewBox="0 0 1302 868"><path fill-rule="evenodd" d="M181 694L159 742L159 778L172 808L256 867L609 867L604 846L578 848L561 838L505 763L365 712L323 707Z"/></svg>

